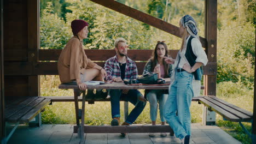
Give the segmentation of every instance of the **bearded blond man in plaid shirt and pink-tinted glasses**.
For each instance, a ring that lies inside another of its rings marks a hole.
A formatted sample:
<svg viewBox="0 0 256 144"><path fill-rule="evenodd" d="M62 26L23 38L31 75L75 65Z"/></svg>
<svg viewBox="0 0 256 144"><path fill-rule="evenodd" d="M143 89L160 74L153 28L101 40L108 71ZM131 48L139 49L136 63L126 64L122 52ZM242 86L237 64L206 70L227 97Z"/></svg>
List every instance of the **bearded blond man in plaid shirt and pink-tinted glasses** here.
<svg viewBox="0 0 256 144"><path fill-rule="evenodd" d="M138 70L135 62L127 57L127 41L124 38L118 38L115 40L114 45L117 55L109 58L104 65L104 70L107 72L106 79L114 82L136 79L138 77ZM110 89L109 94L113 118L111 125L119 125L120 123L120 98L130 101L130 103L135 105L122 125L131 125L146 106L146 99L144 99L138 89ZM126 134L122 135L125 136Z"/></svg>

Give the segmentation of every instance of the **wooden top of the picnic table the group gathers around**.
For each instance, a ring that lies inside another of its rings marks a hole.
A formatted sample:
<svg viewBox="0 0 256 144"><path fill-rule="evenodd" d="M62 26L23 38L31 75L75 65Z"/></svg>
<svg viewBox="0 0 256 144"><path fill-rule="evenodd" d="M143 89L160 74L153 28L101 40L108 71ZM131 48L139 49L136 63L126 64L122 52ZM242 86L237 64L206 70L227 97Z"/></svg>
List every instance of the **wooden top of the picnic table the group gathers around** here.
<svg viewBox="0 0 256 144"><path fill-rule="evenodd" d="M131 86L125 85L123 82L105 83L95 86L87 86L87 89L168 89L170 82L166 82L163 86ZM75 83L62 83L59 85L60 89L78 89L79 87Z"/></svg>

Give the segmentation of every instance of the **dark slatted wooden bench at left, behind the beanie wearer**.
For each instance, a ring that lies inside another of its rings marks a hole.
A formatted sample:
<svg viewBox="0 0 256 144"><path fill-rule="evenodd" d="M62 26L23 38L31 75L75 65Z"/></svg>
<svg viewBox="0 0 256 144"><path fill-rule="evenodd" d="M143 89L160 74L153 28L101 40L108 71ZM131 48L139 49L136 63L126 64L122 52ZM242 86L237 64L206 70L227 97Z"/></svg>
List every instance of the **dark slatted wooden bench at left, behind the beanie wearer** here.
<svg viewBox="0 0 256 144"><path fill-rule="evenodd" d="M30 122L45 106L51 103L51 99L41 97L21 97L14 100L5 101L5 122L15 123L15 127L5 138L7 142L19 124ZM37 124L40 126L40 123Z"/></svg>

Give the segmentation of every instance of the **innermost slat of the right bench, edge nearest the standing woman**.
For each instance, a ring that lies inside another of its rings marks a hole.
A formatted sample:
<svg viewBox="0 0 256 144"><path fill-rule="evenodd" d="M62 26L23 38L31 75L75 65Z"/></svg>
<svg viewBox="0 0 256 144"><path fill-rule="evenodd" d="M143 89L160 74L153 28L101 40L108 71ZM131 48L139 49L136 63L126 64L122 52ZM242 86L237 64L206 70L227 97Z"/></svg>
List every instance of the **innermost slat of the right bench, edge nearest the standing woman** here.
<svg viewBox="0 0 256 144"><path fill-rule="evenodd" d="M213 104L211 101L208 101L205 98L201 98L200 103L205 104L207 107L209 107L211 110L219 113L219 115L223 116L224 118L228 119L229 121L233 121L233 122L239 122L240 118L233 115L232 113L223 110L221 107Z"/></svg>

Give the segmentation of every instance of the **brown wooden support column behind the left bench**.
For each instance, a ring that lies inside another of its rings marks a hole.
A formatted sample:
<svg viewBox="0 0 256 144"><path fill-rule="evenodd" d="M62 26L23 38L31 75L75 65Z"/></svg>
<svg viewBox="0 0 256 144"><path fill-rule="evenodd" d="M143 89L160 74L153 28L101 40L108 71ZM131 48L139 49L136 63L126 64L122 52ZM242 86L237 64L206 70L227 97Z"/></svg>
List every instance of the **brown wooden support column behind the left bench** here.
<svg viewBox="0 0 256 144"><path fill-rule="evenodd" d="M27 0L27 33L28 33L28 62L32 62L32 73L36 70L36 63L38 62L38 51L39 51L39 0ZM39 75L28 76L28 95L30 97L40 95L40 82ZM40 126L41 117L39 113L29 123L31 126Z"/></svg>

